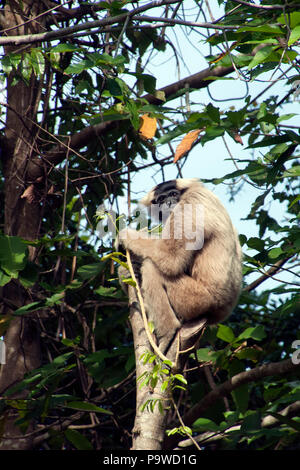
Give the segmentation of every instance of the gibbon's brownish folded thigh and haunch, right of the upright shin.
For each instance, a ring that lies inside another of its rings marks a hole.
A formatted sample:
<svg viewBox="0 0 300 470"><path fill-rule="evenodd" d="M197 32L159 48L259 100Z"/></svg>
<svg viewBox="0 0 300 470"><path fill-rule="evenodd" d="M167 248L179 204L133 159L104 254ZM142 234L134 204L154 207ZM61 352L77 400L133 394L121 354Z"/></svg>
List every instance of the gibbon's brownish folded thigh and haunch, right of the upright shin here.
<svg viewBox="0 0 300 470"><path fill-rule="evenodd" d="M174 281L170 278L164 279L165 289L173 310L177 316L184 321L196 319L201 315L207 315L208 321L219 321L218 300L207 290L201 281L196 281L190 276L183 275ZM226 312L224 313L226 316Z"/></svg>

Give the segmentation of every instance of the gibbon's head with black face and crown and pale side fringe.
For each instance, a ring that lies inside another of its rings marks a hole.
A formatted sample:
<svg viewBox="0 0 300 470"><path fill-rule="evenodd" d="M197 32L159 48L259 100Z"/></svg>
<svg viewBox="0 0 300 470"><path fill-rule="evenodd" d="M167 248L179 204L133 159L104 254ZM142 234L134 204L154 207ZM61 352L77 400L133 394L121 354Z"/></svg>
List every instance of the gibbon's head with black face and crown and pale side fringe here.
<svg viewBox="0 0 300 470"><path fill-rule="evenodd" d="M165 222L180 201L180 198L193 184L199 183L198 178L178 178L160 183L140 200L140 204L151 208L151 215Z"/></svg>

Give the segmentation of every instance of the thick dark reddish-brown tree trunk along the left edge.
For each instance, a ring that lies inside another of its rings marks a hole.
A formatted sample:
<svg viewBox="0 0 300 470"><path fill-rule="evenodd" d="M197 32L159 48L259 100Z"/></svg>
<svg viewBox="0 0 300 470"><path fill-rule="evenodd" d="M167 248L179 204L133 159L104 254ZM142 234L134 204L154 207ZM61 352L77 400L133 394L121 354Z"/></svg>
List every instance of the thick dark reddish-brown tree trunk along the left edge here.
<svg viewBox="0 0 300 470"><path fill-rule="evenodd" d="M41 30L42 19L28 21L44 8L44 3L37 0L11 0L6 2L1 14L3 29L10 29L6 34L28 34ZM17 28L14 28L16 25ZM11 29L14 28L14 29ZM5 53L20 51L8 46ZM29 53L30 46L22 54ZM17 82L17 83L16 83ZM40 100L40 82L32 74L26 82L19 71L13 70L7 78L7 115L6 131L2 141L2 163L5 177L5 228L10 236L19 236L34 240L39 236L42 206L40 201L23 197L25 189L32 181L26 178L28 163L36 155L36 114ZM30 247L29 257L34 259L34 249ZM2 289L2 313L11 314L29 301L27 291L17 280L11 281ZM11 385L22 380L24 374L40 364L39 335L36 324L30 319L13 318L4 337L6 345L6 364L0 371L0 393L3 394ZM22 398L23 395L14 395ZM31 440L23 438L14 421L18 416L14 410L5 415L4 437L0 449L30 449ZM30 431L28 429L27 431Z"/></svg>

